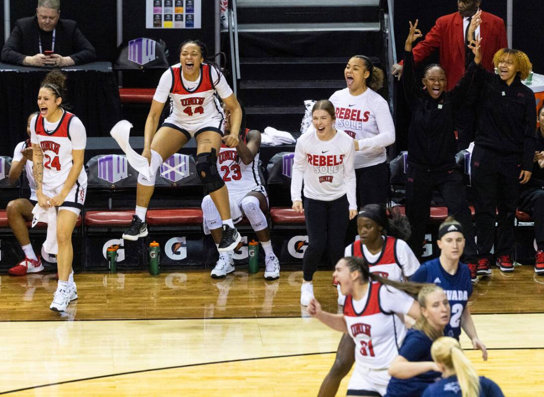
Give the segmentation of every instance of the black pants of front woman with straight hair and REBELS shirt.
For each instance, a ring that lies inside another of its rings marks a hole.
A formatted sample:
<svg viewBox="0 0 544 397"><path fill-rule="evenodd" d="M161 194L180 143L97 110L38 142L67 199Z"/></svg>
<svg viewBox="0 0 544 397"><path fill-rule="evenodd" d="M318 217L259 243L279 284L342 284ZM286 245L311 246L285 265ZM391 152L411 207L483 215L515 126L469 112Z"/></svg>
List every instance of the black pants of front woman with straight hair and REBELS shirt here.
<svg viewBox="0 0 544 397"><path fill-rule="evenodd" d="M304 280L312 281L317 265L325 250L329 252L331 262L344 256L344 238L348 229L349 204L344 196L332 201L304 200L308 247L302 258Z"/></svg>

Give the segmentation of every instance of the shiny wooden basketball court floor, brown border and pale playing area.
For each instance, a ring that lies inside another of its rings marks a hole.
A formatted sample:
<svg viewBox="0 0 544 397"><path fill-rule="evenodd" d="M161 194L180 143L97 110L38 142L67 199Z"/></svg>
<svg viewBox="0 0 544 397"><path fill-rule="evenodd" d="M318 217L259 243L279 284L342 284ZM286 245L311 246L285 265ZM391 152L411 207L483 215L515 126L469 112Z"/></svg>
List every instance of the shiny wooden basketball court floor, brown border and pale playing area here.
<svg viewBox="0 0 544 397"><path fill-rule="evenodd" d="M329 370L340 334L307 317L301 272L208 272L150 276L77 274L79 299L48 310L54 275L0 277L0 394L14 396L311 396ZM336 312L330 272L316 297ZM544 395L544 277L531 267L493 269L475 286L471 310L490 349L481 375L506 396ZM344 379L338 395L345 395Z"/></svg>

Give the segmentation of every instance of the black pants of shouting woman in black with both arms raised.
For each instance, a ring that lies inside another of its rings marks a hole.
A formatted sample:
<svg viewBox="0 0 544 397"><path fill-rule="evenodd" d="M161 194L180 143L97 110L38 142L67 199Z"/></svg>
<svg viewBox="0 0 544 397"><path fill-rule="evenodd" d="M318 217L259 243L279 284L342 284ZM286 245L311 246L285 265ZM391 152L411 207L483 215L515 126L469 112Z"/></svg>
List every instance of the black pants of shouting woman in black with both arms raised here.
<svg viewBox="0 0 544 397"><path fill-rule="evenodd" d="M416 257L419 258L423 254L423 240L429 222L432 192L437 190L446 201L448 214L461 223L463 228L465 261L476 260L478 252L474 242L474 226L461 172L458 169L429 172L408 166L406 177L406 216L412 226L408 244Z"/></svg>

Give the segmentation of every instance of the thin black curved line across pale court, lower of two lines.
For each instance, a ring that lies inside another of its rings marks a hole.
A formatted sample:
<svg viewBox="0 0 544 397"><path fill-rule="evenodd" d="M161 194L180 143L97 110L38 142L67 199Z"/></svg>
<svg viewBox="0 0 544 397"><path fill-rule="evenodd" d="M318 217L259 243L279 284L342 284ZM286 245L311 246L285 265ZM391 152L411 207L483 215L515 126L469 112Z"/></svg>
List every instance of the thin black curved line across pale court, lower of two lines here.
<svg viewBox="0 0 544 397"><path fill-rule="evenodd" d="M469 350L475 350L475 349L463 349L463 350L469 351ZM544 350L544 348L495 348L495 349L487 349L487 351L493 351L493 350ZM317 355L322 355L322 354L335 354L335 353L336 353L336 351L324 351L324 352L319 352L319 353L300 353L300 354L288 354L288 355L282 355L282 356L240 358L238 360L211 361L211 362L207 362L207 363L185 364L183 366L171 366L171 367L162 367L162 368L140 369L140 370L137 370L137 371L120 372L118 374L107 374L107 375L91 376L91 377L85 377L85 378L81 378L81 379L72 379L72 380L63 381L63 382L47 383L45 385L24 387L24 388L16 389L16 390L7 390L5 392L0 392L0 394L24 392L25 390L39 389L39 388L49 387L49 386L65 385L67 383L76 383L76 382L90 381L90 380L95 380L95 379L102 379L102 378L107 378L107 377L141 374L141 373L144 373L144 372L163 371L163 370L176 369L176 368L200 367L200 366L209 366L209 365L213 365L213 364L228 364L228 363L236 363L236 362L244 362L244 361L255 361L255 360L269 360L271 358L317 356Z"/></svg>

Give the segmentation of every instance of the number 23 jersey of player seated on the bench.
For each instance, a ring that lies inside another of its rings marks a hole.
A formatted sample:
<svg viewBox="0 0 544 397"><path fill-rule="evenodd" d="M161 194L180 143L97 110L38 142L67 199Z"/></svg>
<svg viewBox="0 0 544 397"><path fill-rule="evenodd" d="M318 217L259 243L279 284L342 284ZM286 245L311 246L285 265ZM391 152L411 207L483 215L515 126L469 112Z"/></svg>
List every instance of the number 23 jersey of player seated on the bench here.
<svg viewBox="0 0 544 397"><path fill-rule="evenodd" d="M246 142L248 132L249 129L246 129L243 137L244 142ZM221 178L225 181L229 193L246 193L262 187L261 177L259 176L259 152L257 152L251 163L245 165L240 160L236 148L230 148L222 144L217 157L217 169Z"/></svg>

